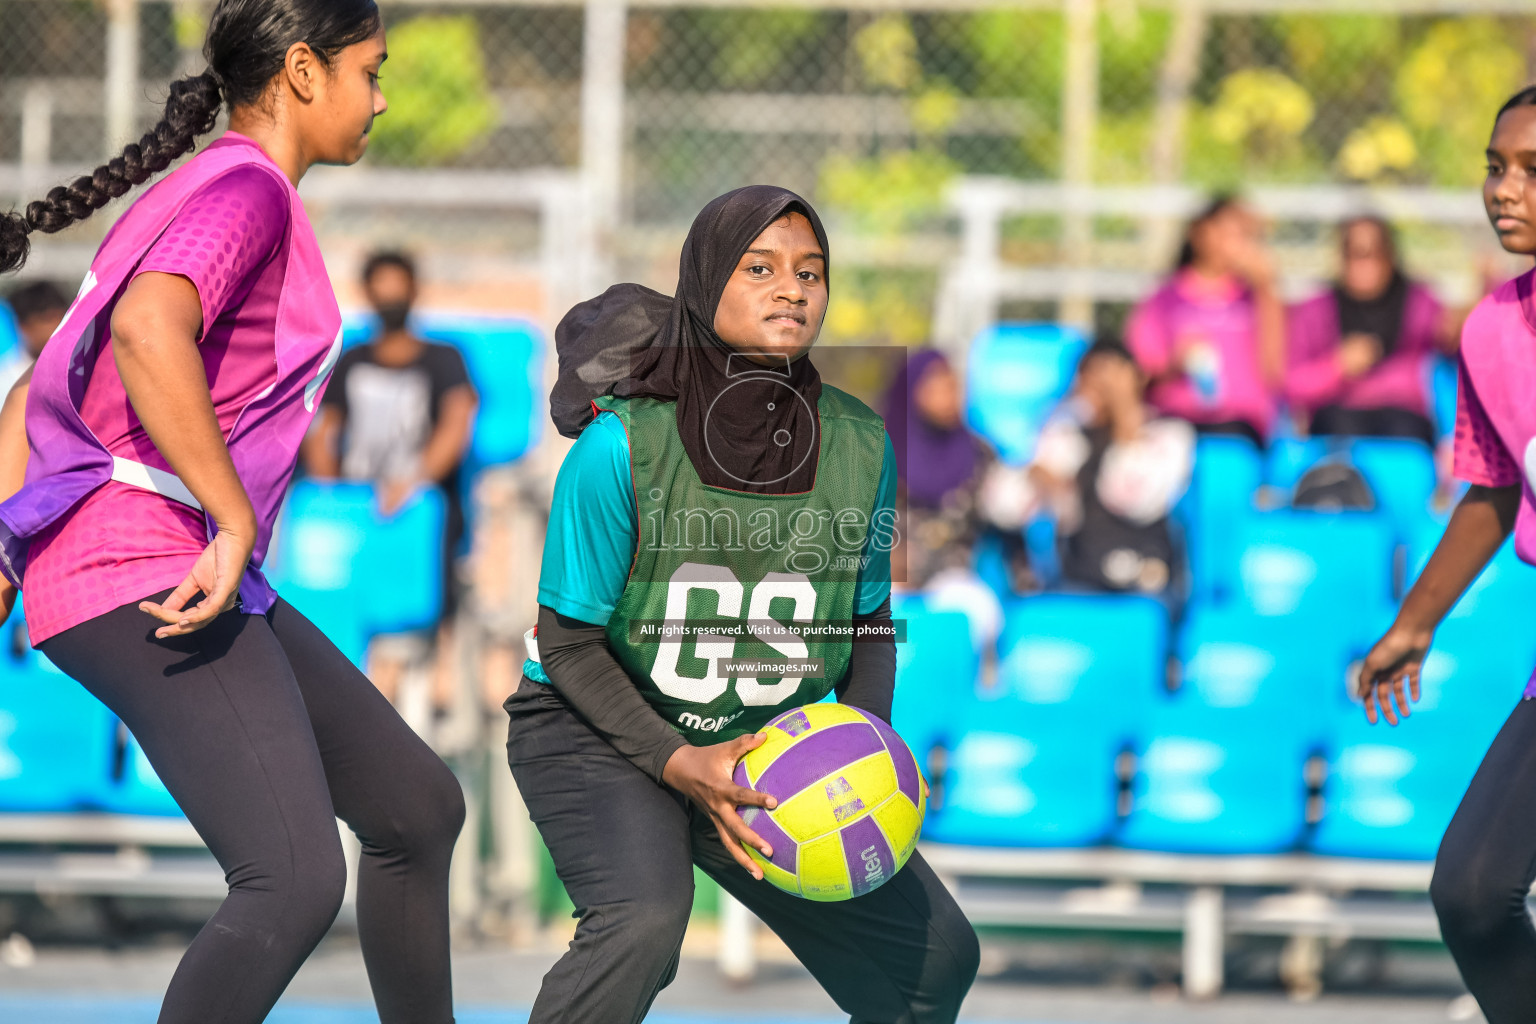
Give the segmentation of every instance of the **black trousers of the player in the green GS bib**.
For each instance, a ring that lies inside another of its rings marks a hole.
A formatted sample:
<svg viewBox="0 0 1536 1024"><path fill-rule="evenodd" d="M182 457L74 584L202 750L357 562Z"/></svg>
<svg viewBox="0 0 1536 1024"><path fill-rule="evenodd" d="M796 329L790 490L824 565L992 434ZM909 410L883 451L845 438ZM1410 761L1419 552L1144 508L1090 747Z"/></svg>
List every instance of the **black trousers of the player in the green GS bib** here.
<svg viewBox="0 0 1536 1024"><path fill-rule="evenodd" d="M922 854L846 903L756 881L708 815L625 760L550 686L507 700L507 760L576 938L544 975L530 1024L636 1024L677 970L693 866L762 918L854 1024L954 1024L980 961L975 932Z"/></svg>

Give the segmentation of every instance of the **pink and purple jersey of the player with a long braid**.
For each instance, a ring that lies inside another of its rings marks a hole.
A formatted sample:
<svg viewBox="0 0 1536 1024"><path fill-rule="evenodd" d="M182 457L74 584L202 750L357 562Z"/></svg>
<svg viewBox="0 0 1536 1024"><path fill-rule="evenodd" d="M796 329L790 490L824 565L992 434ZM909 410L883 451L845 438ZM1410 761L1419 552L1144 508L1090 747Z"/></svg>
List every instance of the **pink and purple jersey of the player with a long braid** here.
<svg viewBox="0 0 1536 1024"><path fill-rule="evenodd" d="M38 359L28 482L0 505L5 568L23 577L32 643L175 586L210 534L111 358L117 298L147 272L197 287L214 408L258 520L241 605L263 613L275 600L260 565L341 319L292 184L255 143L227 134L114 226Z"/></svg>

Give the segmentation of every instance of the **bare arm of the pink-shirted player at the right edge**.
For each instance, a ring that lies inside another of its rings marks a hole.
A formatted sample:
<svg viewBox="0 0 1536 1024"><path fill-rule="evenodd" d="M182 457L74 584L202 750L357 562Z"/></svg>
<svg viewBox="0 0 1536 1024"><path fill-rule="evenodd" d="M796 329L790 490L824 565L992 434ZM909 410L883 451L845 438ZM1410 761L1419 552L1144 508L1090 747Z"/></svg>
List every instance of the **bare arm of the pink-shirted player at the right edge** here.
<svg viewBox="0 0 1536 1024"><path fill-rule="evenodd" d="M1384 717L1398 725L1409 717L1409 702L1419 699L1419 672L1435 629L1467 586L1488 565L1514 530L1521 487L1471 487L1456 505L1428 565L1402 599L1398 619L1366 656L1356 680L1372 725ZM1409 688L1404 692L1402 680Z"/></svg>

